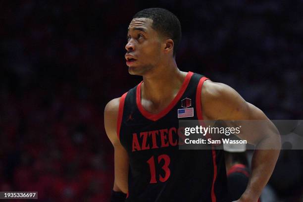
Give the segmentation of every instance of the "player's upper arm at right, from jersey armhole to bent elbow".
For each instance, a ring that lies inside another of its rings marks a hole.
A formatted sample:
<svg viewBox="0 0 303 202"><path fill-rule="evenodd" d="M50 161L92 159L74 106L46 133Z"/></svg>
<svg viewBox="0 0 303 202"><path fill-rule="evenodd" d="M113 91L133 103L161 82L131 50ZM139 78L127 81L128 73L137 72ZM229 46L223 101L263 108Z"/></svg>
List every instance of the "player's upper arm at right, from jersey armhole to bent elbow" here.
<svg viewBox="0 0 303 202"><path fill-rule="evenodd" d="M232 120L236 125L242 125L241 133L237 135L241 139L257 144L274 131L266 115L245 101L233 88L214 82L208 82L205 87L208 88L204 90L204 100L208 103L204 105L206 116L215 120Z"/></svg>

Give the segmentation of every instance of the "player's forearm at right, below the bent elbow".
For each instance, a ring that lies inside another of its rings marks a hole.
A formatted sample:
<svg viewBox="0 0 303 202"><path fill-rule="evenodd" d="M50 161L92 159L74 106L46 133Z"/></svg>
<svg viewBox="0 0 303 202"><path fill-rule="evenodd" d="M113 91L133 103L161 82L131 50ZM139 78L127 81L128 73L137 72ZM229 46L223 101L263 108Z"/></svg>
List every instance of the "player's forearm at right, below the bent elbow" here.
<svg viewBox="0 0 303 202"><path fill-rule="evenodd" d="M279 135L263 139L256 145L252 159L252 174L246 191L241 200L244 202L257 202L262 189L266 186L277 162L281 147ZM266 150L263 150L266 148ZM270 150L269 148L275 148Z"/></svg>

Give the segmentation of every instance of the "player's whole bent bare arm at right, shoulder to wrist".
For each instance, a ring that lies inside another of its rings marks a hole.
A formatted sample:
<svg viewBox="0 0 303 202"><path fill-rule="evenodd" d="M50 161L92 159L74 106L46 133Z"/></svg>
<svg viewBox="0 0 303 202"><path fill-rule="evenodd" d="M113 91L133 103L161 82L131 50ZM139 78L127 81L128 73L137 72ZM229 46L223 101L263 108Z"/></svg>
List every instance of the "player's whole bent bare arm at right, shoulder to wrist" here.
<svg viewBox="0 0 303 202"><path fill-rule="evenodd" d="M253 132L242 127L241 139L255 145L252 174L246 191L237 202L257 202L277 162L281 139L277 128L266 115L253 104L246 102L234 89L211 81L205 81L201 97L204 119L208 120L263 120L262 127ZM265 148L267 150L262 150ZM269 148L272 148L270 150Z"/></svg>

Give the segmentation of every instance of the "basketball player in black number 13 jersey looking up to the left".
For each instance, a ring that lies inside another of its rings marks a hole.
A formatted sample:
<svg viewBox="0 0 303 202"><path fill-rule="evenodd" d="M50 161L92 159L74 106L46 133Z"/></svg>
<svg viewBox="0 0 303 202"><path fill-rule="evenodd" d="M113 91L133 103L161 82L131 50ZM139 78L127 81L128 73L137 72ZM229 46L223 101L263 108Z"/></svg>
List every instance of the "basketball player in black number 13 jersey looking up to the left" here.
<svg viewBox="0 0 303 202"><path fill-rule="evenodd" d="M138 12L127 39L129 73L143 76L143 82L109 101L104 110L105 130L114 147L111 201L227 202L223 151L179 150L178 121L267 117L231 87L178 69L181 26L171 12L162 8ZM179 114L184 99L188 110ZM257 149L280 145L273 124L258 132L259 136L243 132L239 137ZM279 150L254 152L248 186L237 202L257 202L278 155Z"/></svg>

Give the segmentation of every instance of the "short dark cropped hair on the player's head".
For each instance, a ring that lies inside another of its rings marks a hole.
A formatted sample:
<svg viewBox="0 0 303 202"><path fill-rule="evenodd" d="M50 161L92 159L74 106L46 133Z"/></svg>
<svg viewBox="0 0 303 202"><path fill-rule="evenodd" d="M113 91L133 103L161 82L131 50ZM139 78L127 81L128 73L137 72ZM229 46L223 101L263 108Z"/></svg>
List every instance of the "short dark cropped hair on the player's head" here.
<svg viewBox="0 0 303 202"><path fill-rule="evenodd" d="M164 8L147 8L137 12L133 18L152 19L152 28L174 41L173 55L181 41L181 24L176 15Z"/></svg>

